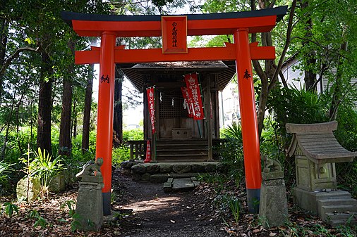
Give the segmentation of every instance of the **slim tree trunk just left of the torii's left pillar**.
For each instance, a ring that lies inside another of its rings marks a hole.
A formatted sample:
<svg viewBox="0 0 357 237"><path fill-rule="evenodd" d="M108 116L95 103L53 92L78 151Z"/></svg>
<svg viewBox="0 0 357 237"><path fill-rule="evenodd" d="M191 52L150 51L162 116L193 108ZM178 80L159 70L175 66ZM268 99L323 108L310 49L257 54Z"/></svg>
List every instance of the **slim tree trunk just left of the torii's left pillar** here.
<svg viewBox="0 0 357 237"><path fill-rule="evenodd" d="M82 134L82 153L89 149L89 136L90 136L90 108L92 105L92 89L93 89L93 71L94 64L90 65L87 79L87 89L85 90L85 102L83 113L83 134Z"/></svg>

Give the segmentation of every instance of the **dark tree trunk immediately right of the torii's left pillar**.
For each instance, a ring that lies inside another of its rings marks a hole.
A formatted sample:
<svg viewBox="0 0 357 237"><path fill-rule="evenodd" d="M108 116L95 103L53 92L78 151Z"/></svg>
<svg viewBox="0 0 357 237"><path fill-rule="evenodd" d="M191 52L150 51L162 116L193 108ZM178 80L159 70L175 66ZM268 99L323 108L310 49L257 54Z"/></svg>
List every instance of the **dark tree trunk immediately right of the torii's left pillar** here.
<svg viewBox="0 0 357 237"><path fill-rule="evenodd" d="M114 120L113 120L113 146L118 147L123 143L123 103L121 94L123 90L123 74L119 67L115 67L114 89Z"/></svg>

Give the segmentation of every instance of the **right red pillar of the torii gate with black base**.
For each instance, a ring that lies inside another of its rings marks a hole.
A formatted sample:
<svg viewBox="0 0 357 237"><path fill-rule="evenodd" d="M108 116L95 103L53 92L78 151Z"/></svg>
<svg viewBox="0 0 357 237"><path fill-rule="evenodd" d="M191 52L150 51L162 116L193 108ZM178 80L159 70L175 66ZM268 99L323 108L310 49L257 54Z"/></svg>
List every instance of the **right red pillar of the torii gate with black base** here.
<svg viewBox="0 0 357 237"><path fill-rule="evenodd" d="M258 213L262 177L248 29L238 29L233 36L236 46L236 70L241 110L248 211Z"/></svg>

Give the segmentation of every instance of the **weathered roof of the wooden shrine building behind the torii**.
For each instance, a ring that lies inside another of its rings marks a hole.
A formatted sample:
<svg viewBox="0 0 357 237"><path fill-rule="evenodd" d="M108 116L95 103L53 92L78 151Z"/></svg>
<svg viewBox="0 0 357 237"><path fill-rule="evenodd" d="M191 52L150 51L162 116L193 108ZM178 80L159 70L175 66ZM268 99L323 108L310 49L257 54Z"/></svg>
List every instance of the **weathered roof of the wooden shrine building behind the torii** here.
<svg viewBox="0 0 357 237"><path fill-rule="evenodd" d="M135 65L120 65L121 71L131 81L138 91L143 92L145 74L178 74L190 72L207 72L217 75L217 87L220 91L226 87L236 74L234 61L190 61L190 62L159 62L138 63Z"/></svg>

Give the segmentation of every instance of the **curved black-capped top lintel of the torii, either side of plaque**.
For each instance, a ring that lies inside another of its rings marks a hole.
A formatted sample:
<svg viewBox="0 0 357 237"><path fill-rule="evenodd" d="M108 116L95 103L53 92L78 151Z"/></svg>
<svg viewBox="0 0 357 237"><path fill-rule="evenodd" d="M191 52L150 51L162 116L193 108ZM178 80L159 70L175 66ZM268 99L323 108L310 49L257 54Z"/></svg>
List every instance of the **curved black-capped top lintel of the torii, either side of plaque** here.
<svg viewBox="0 0 357 237"><path fill-rule="evenodd" d="M188 35L233 34L238 28L250 33L269 32L286 14L287 6L236 13L189 14ZM180 16L180 15L174 15ZM116 37L159 37L162 15L99 15L62 12L62 19L79 36L99 37L114 32Z"/></svg>

